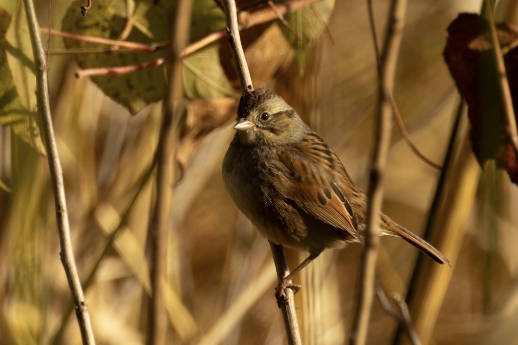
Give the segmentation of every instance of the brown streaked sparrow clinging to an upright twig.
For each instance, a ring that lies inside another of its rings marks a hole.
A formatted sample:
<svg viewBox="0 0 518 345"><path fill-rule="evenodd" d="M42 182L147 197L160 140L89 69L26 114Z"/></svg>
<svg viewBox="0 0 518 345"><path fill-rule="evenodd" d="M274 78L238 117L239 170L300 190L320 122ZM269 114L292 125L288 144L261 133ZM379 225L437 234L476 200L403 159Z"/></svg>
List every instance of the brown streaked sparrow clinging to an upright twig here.
<svg viewBox="0 0 518 345"><path fill-rule="evenodd" d="M277 93L241 96L237 130L223 159L223 181L234 203L269 241L309 252L276 287L278 303L289 281L326 248L361 242L367 200L337 155ZM420 237L380 214L379 235L401 237L440 264L448 259Z"/></svg>

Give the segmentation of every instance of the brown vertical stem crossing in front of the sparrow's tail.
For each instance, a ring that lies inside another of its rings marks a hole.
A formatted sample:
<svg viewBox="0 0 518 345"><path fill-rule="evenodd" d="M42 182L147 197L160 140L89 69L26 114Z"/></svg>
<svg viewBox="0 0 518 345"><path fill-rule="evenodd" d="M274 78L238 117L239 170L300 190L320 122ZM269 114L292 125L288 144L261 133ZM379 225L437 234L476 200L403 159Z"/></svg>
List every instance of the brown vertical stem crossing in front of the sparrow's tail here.
<svg viewBox="0 0 518 345"><path fill-rule="evenodd" d="M378 94L378 125L376 131L375 151L371 160L369 188L367 198L367 227L365 229L365 248L362 260L362 272L359 286L359 298L351 331L350 343L363 345L367 339L372 299L376 259L378 256L378 228L380 210L383 200L384 169L389 152L392 131L392 105L390 93L394 88L399 46L405 20L406 0L393 0L390 18L385 34L383 52L380 56L380 80Z"/></svg>

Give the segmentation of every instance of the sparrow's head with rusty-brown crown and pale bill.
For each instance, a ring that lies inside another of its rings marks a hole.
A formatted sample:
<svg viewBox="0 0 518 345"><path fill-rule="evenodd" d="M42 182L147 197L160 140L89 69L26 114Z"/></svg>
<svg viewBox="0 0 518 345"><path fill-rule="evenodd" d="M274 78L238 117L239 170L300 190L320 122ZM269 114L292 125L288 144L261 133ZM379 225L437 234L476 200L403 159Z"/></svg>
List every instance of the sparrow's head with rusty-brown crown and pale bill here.
<svg viewBox="0 0 518 345"><path fill-rule="evenodd" d="M288 145L303 137L306 124L281 96L269 89L257 89L241 96L237 124L244 145Z"/></svg>

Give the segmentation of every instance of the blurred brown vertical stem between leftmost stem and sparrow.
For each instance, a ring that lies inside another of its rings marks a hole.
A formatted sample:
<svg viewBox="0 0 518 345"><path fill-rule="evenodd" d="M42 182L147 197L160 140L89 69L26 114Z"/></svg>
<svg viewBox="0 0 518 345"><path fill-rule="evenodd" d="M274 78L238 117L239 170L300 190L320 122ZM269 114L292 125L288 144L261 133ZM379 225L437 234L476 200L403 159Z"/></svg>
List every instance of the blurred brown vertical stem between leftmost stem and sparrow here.
<svg viewBox="0 0 518 345"><path fill-rule="evenodd" d="M177 2L175 22L172 27L171 71L169 92L164 97L162 123L156 153L156 205L149 224L149 250L151 256L149 317L146 343L164 345L167 341L167 314L162 281L167 276L167 243L170 224L172 186L174 181L174 117L182 108L181 52L187 46L191 24L192 0Z"/></svg>

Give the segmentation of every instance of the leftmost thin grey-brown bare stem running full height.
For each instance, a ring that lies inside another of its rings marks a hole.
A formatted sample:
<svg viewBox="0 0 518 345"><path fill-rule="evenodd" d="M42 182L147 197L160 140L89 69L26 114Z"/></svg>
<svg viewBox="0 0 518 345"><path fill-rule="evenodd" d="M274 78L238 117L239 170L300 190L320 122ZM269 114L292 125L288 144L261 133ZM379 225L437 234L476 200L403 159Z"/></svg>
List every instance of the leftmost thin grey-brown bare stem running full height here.
<svg viewBox="0 0 518 345"><path fill-rule="evenodd" d="M74 299L76 317L79 323L81 339L83 344L95 344L92 323L88 306L84 301L83 289L79 280L74 251L70 240L70 226L68 223L68 211L65 198L65 187L63 184L63 171L61 168L60 157L57 152L56 138L52 126L52 116L50 113L49 85L47 76L47 61L45 51L39 36L38 22L32 0L24 0L25 12L29 26L29 35L36 65L36 85L37 85L37 105L38 114L41 117L42 130L45 136L47 157L49 162L50 179L54 191L54 201L56 207L57 231L60 238L61 262L65 269L68 287Z"/></svg>

